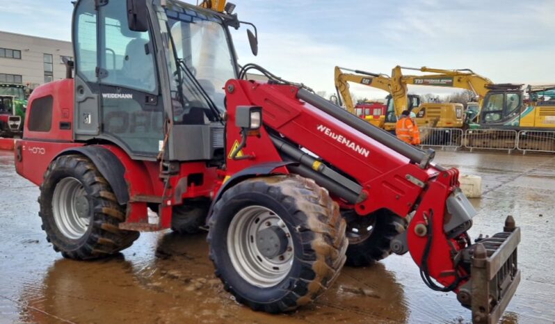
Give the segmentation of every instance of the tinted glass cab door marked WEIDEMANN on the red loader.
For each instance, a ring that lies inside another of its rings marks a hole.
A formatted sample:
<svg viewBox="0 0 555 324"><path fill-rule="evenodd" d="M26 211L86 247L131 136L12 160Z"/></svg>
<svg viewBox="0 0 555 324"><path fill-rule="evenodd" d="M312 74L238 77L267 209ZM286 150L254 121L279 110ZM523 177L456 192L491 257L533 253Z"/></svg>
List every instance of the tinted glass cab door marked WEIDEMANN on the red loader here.
<svg viewBox="0 0 555 324"><path fill-rule="evenodd" d="M127 1L99 7L99 90L102 135L134 155L156 156L163 106L149 31L129 29Z"/></svg>

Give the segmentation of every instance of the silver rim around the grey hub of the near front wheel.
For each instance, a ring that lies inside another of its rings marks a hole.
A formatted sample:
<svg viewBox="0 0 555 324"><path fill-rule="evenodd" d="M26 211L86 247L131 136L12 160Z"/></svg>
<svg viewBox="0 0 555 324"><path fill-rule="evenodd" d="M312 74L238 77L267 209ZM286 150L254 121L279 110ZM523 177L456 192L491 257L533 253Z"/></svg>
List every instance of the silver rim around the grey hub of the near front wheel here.
<svg viewBox="0 0 555 324"><path fill-rule="evenodd" d="M287 236L287 249L268 258L259 251L257 234L273 226ZM248 206L235 214L227 231L227 252L237 273L249 284L262 288L275 286L287 277L295 254L287 225L278 214L262 206Z"/></svg>

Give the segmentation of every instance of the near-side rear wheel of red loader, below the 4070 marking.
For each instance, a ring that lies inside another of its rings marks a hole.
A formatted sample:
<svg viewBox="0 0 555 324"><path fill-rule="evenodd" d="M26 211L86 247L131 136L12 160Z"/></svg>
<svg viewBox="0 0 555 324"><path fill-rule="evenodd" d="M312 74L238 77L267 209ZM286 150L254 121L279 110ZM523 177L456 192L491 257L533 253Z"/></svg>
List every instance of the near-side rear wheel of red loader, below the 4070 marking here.
<svg viewBox="0 0 555 324"><path fill-rule="evenodd" d="M47 241L69 259L97 259L128 248L139 233L119 229L124 206L85 156L61 156L40 186L39 216Z"/></svg>

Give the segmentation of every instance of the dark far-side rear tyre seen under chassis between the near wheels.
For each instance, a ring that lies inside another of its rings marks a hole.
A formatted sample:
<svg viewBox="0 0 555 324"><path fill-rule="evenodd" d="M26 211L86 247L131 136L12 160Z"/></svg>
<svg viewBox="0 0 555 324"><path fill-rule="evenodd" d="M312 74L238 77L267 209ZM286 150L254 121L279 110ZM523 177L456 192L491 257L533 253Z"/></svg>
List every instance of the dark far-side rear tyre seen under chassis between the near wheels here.
<svg viewBox="0 0 555 324"><path fill-rule="evenodd" d="M179 234L198 234L206 224L209 202L191 202L173 207L172 231Z"/></svg>

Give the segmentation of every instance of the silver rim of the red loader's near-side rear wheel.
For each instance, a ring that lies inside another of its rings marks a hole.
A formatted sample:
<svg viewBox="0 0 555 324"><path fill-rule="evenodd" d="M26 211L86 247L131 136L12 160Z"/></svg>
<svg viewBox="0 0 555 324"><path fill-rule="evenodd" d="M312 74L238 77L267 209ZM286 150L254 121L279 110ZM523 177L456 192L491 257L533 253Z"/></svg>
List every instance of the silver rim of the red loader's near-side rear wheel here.
<svg viewBox="0 0 555 324"><path fill-rule="evenodd" d="M90 223L89 203L83 184L75 178L62 179L52 197L52 213L63 236L77 240L87 232Z"/></svg>

